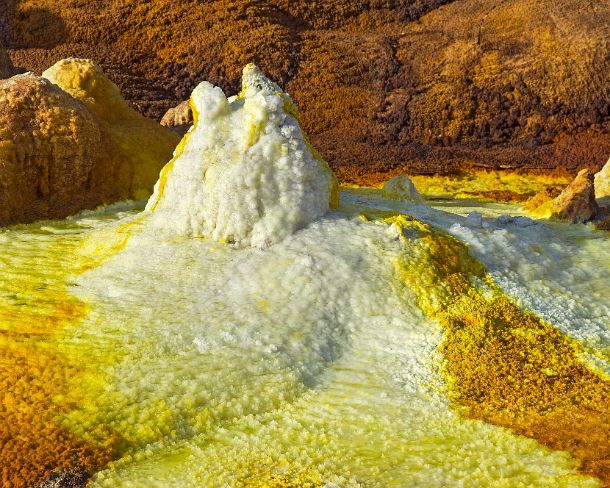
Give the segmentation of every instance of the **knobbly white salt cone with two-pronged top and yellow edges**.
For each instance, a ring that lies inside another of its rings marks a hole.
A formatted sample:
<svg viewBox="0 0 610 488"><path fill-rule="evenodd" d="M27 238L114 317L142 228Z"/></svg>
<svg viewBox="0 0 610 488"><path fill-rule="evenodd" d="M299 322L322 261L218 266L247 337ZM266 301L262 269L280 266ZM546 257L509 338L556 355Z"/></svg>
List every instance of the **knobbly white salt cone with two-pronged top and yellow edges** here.
<svg viewBox="0 0 610 488"><path fill-rule="evenodd" d="M154 225L265 247L338 205L337 179L295 105L256 66L244 68L239 95L203 82L190 103L194 126L146 206Z"/></svg>

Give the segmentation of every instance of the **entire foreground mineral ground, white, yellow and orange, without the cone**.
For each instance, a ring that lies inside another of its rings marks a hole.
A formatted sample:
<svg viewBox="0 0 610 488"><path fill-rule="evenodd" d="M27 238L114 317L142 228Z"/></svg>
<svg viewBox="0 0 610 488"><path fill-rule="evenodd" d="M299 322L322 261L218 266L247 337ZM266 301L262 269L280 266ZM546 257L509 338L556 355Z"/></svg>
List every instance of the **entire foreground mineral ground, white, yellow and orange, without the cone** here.
<svg viewBox="0 0 610 488"><path fill-rule="evenodd" d="M5 481L599 485L607 234L344 189L239 248L142 210L0 231Z"/></svg>

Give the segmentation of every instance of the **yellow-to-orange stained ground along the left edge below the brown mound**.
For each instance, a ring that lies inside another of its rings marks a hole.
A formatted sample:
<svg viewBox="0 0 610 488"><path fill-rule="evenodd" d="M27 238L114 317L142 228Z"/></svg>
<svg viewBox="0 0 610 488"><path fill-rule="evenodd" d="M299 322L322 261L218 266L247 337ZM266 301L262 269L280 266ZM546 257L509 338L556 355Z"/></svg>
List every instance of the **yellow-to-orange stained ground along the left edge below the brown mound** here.
<svg viewBox="0 0 610 488"><path fill-rule="evenodd" d="M110 460L112 440L87 443L60 420L79 368L54 353L51 338L87 313L65 288L79 239L34 231L13 242L7 234L0 241L0 475L2 486L29 487L53 473L94 472Z"/></svg>

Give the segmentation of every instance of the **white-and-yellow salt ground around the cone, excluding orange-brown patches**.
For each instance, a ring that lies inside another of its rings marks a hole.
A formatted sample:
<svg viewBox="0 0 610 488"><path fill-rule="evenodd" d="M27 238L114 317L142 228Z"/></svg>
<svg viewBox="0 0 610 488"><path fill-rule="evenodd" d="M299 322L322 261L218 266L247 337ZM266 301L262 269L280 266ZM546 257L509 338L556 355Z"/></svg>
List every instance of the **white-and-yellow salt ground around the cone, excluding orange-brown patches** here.
<svg viewBox="0 0 610 488"><path fill-rule="evenodd" d="M358 216L398 210L469 243L515 300L602 365L607 237L497 222L502 212L485 204L475 208L491 212L486 227L345 192L337 211L283 241L238 249L160 231L140 208L0 233L3 274L44 269L88 306L45 347L83 370L62 424L121 439L94 486L258 486L282 476L329 487L596 486L566 453L460 416L440 374L442 330L394 274L393 259L417 237L400 242ZM117 235L128 239L105 249ZM82 241L68 274L42 259L67 238ZM103 259L79 274L88 254Z"/></svg>

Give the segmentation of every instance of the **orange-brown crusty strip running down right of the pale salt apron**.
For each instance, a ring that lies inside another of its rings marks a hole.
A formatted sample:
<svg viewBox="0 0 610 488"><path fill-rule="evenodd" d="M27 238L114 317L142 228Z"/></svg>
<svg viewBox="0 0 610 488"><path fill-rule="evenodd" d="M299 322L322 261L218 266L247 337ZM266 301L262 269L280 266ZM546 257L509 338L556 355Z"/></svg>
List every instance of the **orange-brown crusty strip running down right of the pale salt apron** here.
<svg viewBox="0 0 610 488"><path fill-rule="evenodd" d="M444 329L444 373L464 415L568 451L610 486L610 382L579 361L583 347L519 309L465 244L404 215L384 221L417 234L401 232L409 251L396 273Z"/></svg>

